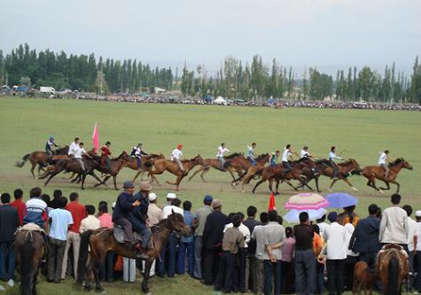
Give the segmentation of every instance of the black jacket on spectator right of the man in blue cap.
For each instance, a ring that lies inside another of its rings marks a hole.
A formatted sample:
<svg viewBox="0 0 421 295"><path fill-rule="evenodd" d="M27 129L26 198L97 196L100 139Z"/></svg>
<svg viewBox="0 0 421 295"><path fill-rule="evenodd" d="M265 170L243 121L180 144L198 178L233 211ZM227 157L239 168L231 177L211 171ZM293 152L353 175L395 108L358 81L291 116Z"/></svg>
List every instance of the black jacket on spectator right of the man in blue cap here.
<svg viewBox="0 0 421 295"><path fill-rule="evenodd" d="M214 211L207 215L207 222L203 230L203 246L207 250L214 250L222 243L223 228L228 223L228 217L221 211Z"/></svg>

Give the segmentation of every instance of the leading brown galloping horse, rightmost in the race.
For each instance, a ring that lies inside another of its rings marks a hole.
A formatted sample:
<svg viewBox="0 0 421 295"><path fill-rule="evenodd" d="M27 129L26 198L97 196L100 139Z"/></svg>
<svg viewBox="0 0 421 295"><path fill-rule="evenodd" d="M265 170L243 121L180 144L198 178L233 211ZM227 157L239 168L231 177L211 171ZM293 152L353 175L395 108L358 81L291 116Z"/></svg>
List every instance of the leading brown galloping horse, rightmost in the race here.
<svg viewBox="0 0 421 295"><path fill-rule="evenodd" d="M386 178L385 169L379 166L367 166L363 168L363 175L369 181L367 185L373 188L374 190L378 190L378 192L383 194L382 190L390 190L390 184L394 183L397 186L396 193L399 192L401 185L399 182L396 182L396 177L398 176L399 172L401 172L402 168L406 168L412 170L412 166L410 166L409 162L404 160L403 158L396 159L393 163L390 164L390 171L389 175ZM386 188L378 188L376 186L376 178L382 182L386 183Z"/></svg>

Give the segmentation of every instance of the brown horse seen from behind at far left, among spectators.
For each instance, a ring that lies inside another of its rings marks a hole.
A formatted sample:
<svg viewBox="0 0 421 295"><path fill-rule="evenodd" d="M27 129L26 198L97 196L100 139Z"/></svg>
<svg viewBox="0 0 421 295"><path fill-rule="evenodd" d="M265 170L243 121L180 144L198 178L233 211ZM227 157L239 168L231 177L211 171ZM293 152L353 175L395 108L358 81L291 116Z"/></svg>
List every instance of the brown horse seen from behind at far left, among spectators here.
<svg viewBox="0 0 421 295"><path fill-rule="evenodd" d="M43 232L25 227L19 229L15 237L15 252L20 274L20 295L36 295L38 271L46 252Z"/></svg>

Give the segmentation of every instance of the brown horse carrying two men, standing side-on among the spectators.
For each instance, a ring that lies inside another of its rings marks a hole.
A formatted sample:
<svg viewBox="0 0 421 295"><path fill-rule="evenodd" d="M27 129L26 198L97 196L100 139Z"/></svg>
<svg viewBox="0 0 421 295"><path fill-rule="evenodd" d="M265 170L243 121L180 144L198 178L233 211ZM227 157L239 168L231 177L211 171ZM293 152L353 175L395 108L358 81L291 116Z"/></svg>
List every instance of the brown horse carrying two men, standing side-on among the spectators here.
<svg viewBox="0 0 421 295"><path fill-rule="evenodd" d="M160 259L160 251L167 245L169 235L172 231L190 235L191 229L184 223L183 216L179 213L173 213L168 216L168 219L160 221L152 228L152 247L148 249L145 254L149 257L146 260L144 268L144 281L142 283L142 291L149 292L148 279L151 272L153 260ZM90 246L90 261L87 264L88 249ZM78 283L82 283L85 279L85 290L90 290L90 279L85 278L86 274L93 271L96 281L96 290L104 291L103 286L99 282L99 267L104 262L106 253L109 251L115 252L117 255L128 258L136 258L136 249L127 248L124 244L117 243L113 236L113 229L97 229L88 230L81 236L81 248L78 262Z"/></svg>

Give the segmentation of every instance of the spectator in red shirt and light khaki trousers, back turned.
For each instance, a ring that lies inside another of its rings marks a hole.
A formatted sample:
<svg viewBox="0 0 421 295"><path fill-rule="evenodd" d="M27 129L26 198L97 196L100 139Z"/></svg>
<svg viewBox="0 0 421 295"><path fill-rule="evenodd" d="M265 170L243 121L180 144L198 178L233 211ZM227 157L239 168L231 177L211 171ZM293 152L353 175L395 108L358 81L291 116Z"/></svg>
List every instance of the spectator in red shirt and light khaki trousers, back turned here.
<svg viewBox="0 0 421 295"><path fill-rule="evenodd" d="M79 235L79 228L81 227L81 221L86 217L85 206L79 203L79 195L76 192L70 194L70 204L67 204L66 210L72 214L73 225L67 231L67 243L65 254L63 257L63 265L61 268L61 278L64 279L66 276L67 258L70 246L73 250L73 262L74 262L74 279L77 280L77 262L79 260L79 248L81 245L81 236Z"/></svg>

